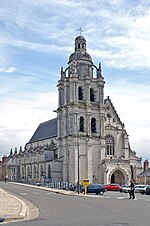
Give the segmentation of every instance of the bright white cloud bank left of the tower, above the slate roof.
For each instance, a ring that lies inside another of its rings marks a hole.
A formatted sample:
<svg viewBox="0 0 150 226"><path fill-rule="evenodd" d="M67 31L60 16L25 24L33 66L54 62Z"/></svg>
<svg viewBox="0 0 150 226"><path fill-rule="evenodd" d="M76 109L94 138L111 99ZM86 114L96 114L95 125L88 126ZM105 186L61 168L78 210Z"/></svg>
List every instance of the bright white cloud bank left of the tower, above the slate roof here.
<svg viewBox="0 0 150 226"><path fill-rule="evenodd" d="M50 98L53 97L53 98ZM39 123L56 117L57 93L27 93L1 98L0 137L1 150L24 146Z"/></svg>

